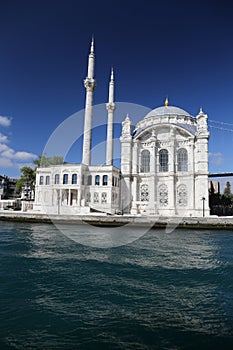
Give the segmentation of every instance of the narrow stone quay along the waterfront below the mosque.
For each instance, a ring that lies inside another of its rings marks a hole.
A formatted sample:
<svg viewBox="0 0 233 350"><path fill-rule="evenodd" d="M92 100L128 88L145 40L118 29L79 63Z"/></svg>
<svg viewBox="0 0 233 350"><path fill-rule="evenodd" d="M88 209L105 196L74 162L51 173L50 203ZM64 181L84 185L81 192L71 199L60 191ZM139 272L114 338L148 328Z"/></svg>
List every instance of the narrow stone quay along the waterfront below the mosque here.
<svg viewBox="0 0 233 350"><path fill-rule="evenodd" d="M92 226L144 226L150 228L177 227L188 229L233 230L233 216L158 217L132 215L47 215L32 212L0 212L0 221L89 224Z"/></svg>

